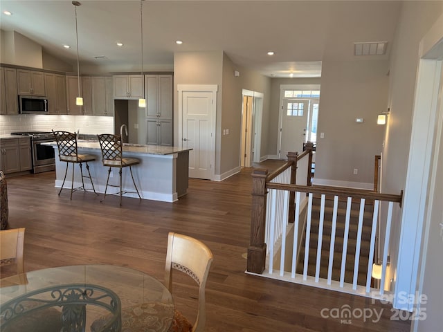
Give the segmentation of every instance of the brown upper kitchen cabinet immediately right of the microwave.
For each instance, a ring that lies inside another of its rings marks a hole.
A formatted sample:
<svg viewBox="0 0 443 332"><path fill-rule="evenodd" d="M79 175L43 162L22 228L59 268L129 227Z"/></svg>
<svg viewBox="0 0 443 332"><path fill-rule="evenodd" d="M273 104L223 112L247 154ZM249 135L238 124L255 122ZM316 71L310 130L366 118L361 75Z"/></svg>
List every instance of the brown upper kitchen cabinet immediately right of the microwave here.
<svg viewBox="0 0 443 332"><path fill-rule="evenodd" d="M66 76L44 73L48 114L66 114Z"/></svg>

